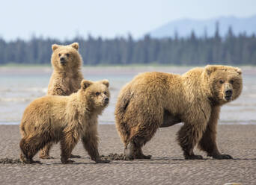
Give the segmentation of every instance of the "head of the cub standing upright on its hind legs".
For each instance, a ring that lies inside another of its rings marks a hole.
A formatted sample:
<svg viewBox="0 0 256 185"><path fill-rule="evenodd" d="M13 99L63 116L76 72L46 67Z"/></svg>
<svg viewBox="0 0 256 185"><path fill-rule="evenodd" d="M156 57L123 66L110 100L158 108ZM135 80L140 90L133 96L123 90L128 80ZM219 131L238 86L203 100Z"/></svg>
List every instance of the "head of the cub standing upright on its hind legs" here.
<svg viewBox="0 0 256 185"><path fill-rule="evenodd" d="M52 45L52 66L61 71L73 71L80 69L82 57L78 51L79 43L67 46Z"/></svg>

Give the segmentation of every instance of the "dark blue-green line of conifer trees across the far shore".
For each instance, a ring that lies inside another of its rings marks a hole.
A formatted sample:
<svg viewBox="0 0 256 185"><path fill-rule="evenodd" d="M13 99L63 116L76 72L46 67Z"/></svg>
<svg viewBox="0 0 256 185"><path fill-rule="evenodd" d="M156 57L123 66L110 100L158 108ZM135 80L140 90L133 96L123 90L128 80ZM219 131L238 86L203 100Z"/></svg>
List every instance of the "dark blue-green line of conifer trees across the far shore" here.
<svg viewBox="0 0 256 185"><path fill-rule="evenodd" d="M256 37L246 33L234 35L229 28L225 37L219 36L219 28L213 37L189 37L156 39L145 35L135 40L128 37L103 39L76 37L61 42L55 39L32 37L31 40L5 41L0 38L0 65L50 64L52 44L79 43L79 52L85 65L204 65L208 63L226 65L256 65Z"/></svg>

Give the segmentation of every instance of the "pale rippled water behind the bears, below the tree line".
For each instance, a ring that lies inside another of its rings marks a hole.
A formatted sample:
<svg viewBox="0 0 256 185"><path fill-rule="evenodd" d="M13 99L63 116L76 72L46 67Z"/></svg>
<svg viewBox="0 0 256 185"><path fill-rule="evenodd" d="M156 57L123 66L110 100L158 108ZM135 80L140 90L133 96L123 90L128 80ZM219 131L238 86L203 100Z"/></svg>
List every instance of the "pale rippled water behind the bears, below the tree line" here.
<svg viewBox="0 0 256 185"><path fill-rule="evenodd" d="M162 71L182 74L187 67L85 67L86 79L109 79L111 101L100 124L114 124L115 102L121 87L139 72ZM221 124L256 124L256 68L244 67L243 92L236 101L222 107ZM0 68L0 125L18 125L25 107L40 96L46 95L52 69L48 67Z"/></svg>

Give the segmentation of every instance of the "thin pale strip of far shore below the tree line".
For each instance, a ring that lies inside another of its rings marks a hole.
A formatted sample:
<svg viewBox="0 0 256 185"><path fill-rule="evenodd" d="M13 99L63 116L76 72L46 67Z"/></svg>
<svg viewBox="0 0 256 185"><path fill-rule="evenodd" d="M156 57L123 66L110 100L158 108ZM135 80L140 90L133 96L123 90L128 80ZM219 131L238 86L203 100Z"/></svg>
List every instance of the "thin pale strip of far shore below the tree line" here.
<svg viewBox="0 0 256 185"><path fill-rule="evenodd" d="M204 65L206 66L206 65ZM176 74L182 74L187 72L189 69L195 67L204 67L204 66L171 66L171 65L127 65L127 66L82 66L82 72L88 75L136 75L139 72L171 72ZM243 70L243 74L254 75L256 66L238 66ZM50 75L52 73L51 65L42 65L42 66L0 66L0 74L8 75L10 73L18 75Z"/></svg>

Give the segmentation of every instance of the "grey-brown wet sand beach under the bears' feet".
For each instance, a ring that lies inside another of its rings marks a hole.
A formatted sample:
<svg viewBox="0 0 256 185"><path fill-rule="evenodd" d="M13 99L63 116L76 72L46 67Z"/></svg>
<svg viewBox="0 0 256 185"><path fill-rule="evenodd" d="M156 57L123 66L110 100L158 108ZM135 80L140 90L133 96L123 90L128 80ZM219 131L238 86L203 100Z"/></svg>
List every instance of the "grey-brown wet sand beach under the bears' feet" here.
<svg viewBox="0 0 256 185"><path fill-rule="evenodd" d="M213 160L201 151L205 160L183 160L175 141L180 125L161 128L144 146L151 160L114 160L96 164L76 145L73 154L81 159L63 165L59 145L52 149L52 160L43 164L0 163L0 184L256 184L256 125L219 125L219 150L234 160ZM100 125L100 154L123 152L115 125ZM0 158L19 157L19 126L0 125ZM34 157L39 160L38 157Z"/></svg>

